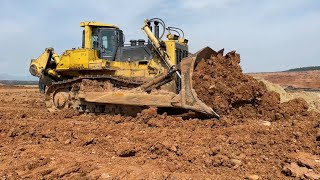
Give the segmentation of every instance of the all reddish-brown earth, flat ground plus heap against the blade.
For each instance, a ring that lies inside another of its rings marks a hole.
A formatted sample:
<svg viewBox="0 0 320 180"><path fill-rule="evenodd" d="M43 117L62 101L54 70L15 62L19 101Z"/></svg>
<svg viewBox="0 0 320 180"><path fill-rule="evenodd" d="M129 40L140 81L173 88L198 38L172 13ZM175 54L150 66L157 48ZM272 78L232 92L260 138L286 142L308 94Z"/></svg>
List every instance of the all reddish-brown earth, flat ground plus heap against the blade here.
<svg viewBox="0 0 320 180"><path fill-rule="evenodd" d="M194 88L221 118L49 113L36 87L0 86L2 179L317 179L320 114L280 103L220 51Z"/></svg>

